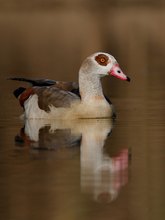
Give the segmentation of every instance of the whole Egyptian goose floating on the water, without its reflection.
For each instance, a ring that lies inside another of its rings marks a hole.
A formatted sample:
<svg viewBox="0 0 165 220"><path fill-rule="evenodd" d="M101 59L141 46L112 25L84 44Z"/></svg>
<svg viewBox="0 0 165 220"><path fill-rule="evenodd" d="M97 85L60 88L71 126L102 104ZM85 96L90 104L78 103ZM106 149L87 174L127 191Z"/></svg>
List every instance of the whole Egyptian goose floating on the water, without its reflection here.
<svg viewBox="0 0 165 220"><path fill-rule="evenodd" d="M48 79L11 79L32 84L14 91L27 119L107 118L112 117L114 111L112 103L103 94L100 82L100 78L106 75L130 81L116 59L103 52L94 53L83 61L79 84Z"/></svg>

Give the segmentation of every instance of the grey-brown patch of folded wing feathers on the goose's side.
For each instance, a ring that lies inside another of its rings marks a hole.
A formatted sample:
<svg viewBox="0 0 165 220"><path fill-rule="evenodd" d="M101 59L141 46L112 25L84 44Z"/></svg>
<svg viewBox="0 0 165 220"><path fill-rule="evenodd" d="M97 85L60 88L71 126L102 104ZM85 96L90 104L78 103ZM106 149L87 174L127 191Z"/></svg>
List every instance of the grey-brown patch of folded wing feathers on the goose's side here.
<svg viewBox="0 0 165 220"><path fill-rule="evenodd" d="M38 105L45 111L50 110L50 106L70 107L70 105L80 98L70 92L61 90L55 86L49 87L33 87L35 94L38 95Z"/></svg>

